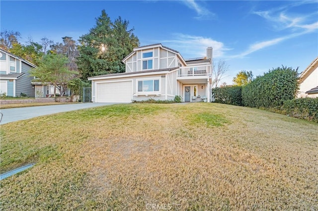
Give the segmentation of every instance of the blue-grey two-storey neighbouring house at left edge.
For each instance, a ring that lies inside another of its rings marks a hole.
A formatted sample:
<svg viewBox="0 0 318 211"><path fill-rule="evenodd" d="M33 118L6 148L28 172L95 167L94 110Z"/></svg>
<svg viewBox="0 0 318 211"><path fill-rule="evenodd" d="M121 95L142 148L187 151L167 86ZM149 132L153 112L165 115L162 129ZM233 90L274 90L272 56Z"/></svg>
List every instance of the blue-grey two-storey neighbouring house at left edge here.
<svg viewBox="0 0 318 211"><path fill-rule="evenodd" d="M29 70L35 67L31 62L0 49L0 94L18 97L21 93L34 97L33 77Z"/></svg>

